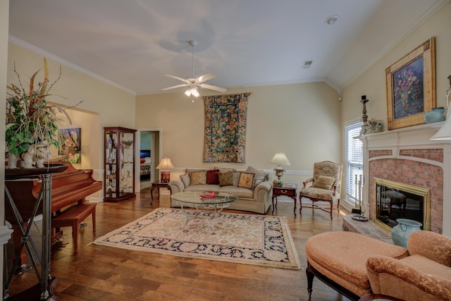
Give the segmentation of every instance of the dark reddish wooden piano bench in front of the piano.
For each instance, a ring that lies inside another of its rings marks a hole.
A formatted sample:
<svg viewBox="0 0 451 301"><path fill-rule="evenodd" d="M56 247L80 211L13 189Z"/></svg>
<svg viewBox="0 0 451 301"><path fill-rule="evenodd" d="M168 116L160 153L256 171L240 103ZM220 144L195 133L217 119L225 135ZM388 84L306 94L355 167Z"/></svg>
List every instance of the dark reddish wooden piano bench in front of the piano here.
<svg viewBox="0 0 451 301"><path fill-rule="evenodd" d="M92 233L96 233L96 204L78 204L51 219L51 228L72 227L73 253L78 253L78 225L92 214ZM53 233L53 231L52 231Z"/></svg>

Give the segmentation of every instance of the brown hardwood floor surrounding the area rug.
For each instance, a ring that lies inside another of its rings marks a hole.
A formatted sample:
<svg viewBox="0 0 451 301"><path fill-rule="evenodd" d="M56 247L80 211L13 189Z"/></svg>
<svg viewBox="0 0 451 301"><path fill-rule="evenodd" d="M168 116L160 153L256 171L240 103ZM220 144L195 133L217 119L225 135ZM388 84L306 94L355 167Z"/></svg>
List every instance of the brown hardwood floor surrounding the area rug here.
<svg viewBox="0 0 451 301"><path fill-rule="evenodd" d="M288 218L302 271L89 245L155 208L170 207L168 195L154 199L151 205L146 188L136 199L97 204L97 233L93 235L88 217L88 225L80 229L76 256L70 228L63 228L66 235L53 245L51 255L51 275L60 279L55 289L60 300L309 300L305 242L318 233L342 230L342 214L337 211L330 221L328 213L317 209L303 209L300 215L297 204L294 216L292 200L279 199L274 214ZM32 270L16 275L10 295L35 283ZM311 300L348 300L316 278L313 288Z"/></svg>

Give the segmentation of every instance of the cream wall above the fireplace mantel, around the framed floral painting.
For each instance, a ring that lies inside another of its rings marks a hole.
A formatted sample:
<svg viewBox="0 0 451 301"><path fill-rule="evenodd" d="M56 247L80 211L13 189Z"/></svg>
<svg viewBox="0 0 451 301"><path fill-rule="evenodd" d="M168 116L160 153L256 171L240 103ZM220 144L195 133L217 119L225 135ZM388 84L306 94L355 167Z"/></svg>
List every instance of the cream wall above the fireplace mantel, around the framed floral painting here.
<svg viewBox="0 0 451 301"><path fill-rule="evenodd" d="M387 100L385 95L385 68L401 59L410 51L435 37L435 81L436 106L447 106L445 91L450 86L447 76L451 74L451 3L440 9L409 36L402 40L388 54L383 56L374 66L369 68L357 80L342 92L342 125L352 118L362 116L362 95L366 95L366 115L369 118L381 119L384 128L387 125ZM344 141L344 136L342 137ZM343 157L342 161L345 159Z"/></svg>

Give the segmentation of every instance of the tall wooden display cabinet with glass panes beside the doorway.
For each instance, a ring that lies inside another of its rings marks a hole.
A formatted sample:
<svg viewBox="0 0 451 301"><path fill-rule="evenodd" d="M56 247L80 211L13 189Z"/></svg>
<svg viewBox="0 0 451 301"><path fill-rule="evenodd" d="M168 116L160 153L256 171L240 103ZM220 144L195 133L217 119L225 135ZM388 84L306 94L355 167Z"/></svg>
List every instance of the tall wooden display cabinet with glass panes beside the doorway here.
<svg viewBox="0 0 451 301"><path fill-rule="evenodd" d="M135 133L130 128L104 128L104 201L135 197Z"/></svg>

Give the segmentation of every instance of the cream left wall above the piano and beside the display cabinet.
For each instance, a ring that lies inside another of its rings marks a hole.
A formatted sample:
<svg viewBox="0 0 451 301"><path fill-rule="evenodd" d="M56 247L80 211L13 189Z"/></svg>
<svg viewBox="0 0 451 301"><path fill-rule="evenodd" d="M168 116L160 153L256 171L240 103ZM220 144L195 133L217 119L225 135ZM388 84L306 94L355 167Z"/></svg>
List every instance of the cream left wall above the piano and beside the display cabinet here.
<svg viewBox="0 0 451 301"><path fill-rule="evenodd" d="M49 79L54 82L59 74L60 63L48 59ZM16 70L26 85L28 78L43 67L43 56L17 44L8 44L8 84L18 83L17 76L13 73L14 63ZM118 87L113 87L97 78L92 78L85 73L61 66L61 79L52 89L49 102L74 106L79 104L75 111L79 111L78 118L74 121L82 123L82 137L89 137L89 144L82 145L82 152L90 153L90 159L85 156L82 160L82 168L103 170L103 128L105 126L123 126L135 128L135 95L125 92ZM37 75L37 81L42 81L42 71ZM82 117L82 111L87 113ZM90 116L89 116L90 115ZM97 115L97 116L96 116ZM3 132L2 132L3 133ZM82 138L83 139L83 138Z"/></svg>

